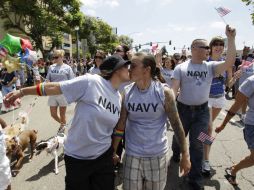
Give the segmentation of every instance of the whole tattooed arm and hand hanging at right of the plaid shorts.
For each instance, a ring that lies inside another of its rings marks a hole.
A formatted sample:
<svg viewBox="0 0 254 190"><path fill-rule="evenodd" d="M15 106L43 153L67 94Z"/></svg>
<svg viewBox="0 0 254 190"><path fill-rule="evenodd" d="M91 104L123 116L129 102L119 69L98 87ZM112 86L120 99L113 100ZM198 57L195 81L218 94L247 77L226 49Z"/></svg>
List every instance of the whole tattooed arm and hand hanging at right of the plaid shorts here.
<svg viewBox="0 0 254 190"><path fill-rule="evenodd" d="M173 90L165 87L165 110L168 115L170 124L174 130L176 139L179 142L181 152L182 152L182 159L180 163L180 171L184 172L183 175L186 175L190 171L191 163L189 159L189 153L187 149L187 142L185 138L185 132L181 123L181 120L178 115L176 101Z"/></svg>

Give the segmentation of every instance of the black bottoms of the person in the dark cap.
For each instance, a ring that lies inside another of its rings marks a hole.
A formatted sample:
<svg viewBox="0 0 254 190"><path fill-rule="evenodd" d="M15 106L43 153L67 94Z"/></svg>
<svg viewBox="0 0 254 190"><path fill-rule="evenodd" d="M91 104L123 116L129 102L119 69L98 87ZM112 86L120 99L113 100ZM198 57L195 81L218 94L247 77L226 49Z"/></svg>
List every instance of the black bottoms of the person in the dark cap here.
<svg viewBox="0 0 254 190"><path fill-rule="evenodd" d="M64 156L66 190L114 190L113 148L94 160Z"/></svg>

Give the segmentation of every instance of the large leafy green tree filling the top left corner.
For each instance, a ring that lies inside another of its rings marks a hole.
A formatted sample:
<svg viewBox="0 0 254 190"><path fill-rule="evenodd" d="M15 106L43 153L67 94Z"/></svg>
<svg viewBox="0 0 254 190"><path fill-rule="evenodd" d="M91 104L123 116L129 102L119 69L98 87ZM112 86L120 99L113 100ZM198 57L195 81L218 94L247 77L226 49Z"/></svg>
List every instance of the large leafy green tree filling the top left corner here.
<svg viewBox="0 0 254 190"><path fill-rule="evenodd" d="M43 36L50 36L52 48L59 46L64 32L71 33L83 18L78 0L0 0L0 18L6 29L18 29L43 49Z"/></svg>

